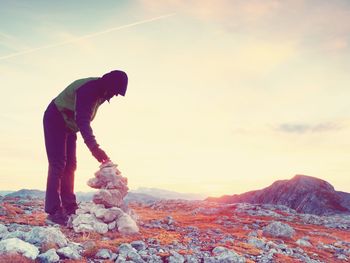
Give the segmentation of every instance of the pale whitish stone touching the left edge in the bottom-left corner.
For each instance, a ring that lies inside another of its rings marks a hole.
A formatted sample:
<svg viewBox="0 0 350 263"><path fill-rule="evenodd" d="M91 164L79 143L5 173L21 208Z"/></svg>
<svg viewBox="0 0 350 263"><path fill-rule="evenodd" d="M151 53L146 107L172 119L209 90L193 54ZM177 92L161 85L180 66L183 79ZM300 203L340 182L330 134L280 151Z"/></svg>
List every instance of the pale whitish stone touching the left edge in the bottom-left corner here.
<svg viewBox="0 0 350 263"><path fill-rule="evenodd" d="M27 258L35 260L39 255L39 249L18 238L8 238L0 241L0 254L19 253Z"/></svg>

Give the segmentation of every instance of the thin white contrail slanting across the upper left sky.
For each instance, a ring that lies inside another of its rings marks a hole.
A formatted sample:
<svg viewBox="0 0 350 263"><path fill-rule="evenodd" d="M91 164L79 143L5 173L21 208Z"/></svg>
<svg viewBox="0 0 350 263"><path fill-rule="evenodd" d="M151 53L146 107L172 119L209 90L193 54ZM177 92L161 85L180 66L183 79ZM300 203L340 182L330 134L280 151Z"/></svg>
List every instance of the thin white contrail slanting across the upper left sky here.
<svg viewBox="0 0 350 263"><path fill-rule="evenodd" d="M100 32L91 33L91 34L88 34L88 35L76 37L76 38L73 38L73 39L70 39L70 40L66 40L66 41L63 41L63 42L59 42L59 43L56 43L56 44L50 44L50 45L46 45L46 46L41 46L41 47L37 47L37 48L31 48L31 49L15 52L15 53L12 53L12 54L9 54L9 55L1 56L0 60L4 60L4 59L7 59L7 58L12 58L12 57L17 57L17 56L24 55L24 54L33 53L33 52L36 52L36 51L42 50L42 49L47 49L47 48L53 48L53 47L59 47L59 46L67 45L67 44L70 44L70 43L73 43L73 42L76 42L76 41L79 41L79 40L82 40L82 39L92 38L92 37L96 37L96 36L99 36L99 35L107 34L107 33L113 32L113 31L121 30L121 29L124 29L124 28L129 28L129 27L133 27L133 26L137 26L137 25L141 25L141 24L146 24L146 23L149 23L149 22L153 22L153 21L156 21L156 20L164 19L164 18L167 18L167 17L170 17L170 16L174 16L174 15L175 15L175 13L162 15L162 16L157 16L157 17L154 17L154 18L141 20L141 21L134 22L134 23L127 24L127 25L123 25L123 26L112 27L112 28L109 28L109 29L106 29L106 30L103 30L103 31L100 31Z"/></svg>

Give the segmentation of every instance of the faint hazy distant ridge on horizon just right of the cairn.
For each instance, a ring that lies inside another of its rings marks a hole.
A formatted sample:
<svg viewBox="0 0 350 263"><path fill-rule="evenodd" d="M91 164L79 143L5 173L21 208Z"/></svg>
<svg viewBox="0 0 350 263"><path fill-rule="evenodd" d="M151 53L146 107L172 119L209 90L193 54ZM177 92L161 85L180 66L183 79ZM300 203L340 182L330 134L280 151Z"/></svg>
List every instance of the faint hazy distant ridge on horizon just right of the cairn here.
<svg viewBox="0 0 350 263"><path fill-rule="evenodd" d="M203 200L206 198L204 194L178 193L175 191L169 191L169 190L164 190L159 188L147 188L147 187L139 187L136 190L131 190L131 192L155 196L158 199Z"/></svg>

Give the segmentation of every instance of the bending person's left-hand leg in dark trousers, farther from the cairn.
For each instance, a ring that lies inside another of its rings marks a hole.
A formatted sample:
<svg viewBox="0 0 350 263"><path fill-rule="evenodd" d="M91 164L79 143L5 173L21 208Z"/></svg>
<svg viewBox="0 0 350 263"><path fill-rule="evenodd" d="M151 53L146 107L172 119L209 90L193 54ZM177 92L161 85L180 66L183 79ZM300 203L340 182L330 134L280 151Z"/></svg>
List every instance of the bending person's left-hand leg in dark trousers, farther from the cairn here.
<svg viewBox="0 0 350 263"><path fill-rule="evenodd" d="M67 134L64 120L52 102L44 114L44 134L49 161L45 212L55 214L62 210L59 189L61 177L66 166Z"/></svg>

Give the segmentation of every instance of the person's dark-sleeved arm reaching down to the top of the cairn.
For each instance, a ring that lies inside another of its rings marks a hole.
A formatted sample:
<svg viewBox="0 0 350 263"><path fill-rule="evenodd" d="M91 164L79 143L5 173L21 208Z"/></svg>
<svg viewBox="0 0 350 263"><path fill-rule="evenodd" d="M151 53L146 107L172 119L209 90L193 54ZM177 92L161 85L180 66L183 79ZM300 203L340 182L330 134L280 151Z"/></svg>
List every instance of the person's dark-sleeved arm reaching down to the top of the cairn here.
<svg viewBox="0 0 350 263"><path fill-rule="evenodd" d="M99 144L93 134L90 122L93 110L103 92L98 85L98 80L89 81L77 90L75 102L75 119L85 144L93 156L103 162L108 159L106 153L99 148Z"/></svg>

